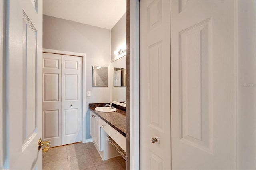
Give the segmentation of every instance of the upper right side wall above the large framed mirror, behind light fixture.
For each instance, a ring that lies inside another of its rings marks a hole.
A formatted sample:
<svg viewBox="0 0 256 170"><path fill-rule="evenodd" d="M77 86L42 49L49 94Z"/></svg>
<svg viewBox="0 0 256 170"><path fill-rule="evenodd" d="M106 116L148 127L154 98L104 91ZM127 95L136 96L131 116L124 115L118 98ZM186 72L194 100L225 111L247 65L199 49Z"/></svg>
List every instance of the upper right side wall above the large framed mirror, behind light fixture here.
<svg viewBox="0 0 256 170"><path fill-rule="evenodd" d="M111 29L111 59L117 57L114 51L126 49L126 13Z"/></svg>

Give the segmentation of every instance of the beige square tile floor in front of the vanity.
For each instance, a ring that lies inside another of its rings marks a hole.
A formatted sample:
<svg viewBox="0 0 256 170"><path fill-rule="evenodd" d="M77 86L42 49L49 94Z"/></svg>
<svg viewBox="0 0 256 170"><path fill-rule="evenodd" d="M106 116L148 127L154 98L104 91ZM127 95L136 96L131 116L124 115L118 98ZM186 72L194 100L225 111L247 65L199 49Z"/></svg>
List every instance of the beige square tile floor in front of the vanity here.
<svg viewBox="0 0 256 170"><path fill-rule="evenodd" d="M125 170L122 156L103 161L94 144L75 143L50 148L43 154L43 170Z"/></svg>

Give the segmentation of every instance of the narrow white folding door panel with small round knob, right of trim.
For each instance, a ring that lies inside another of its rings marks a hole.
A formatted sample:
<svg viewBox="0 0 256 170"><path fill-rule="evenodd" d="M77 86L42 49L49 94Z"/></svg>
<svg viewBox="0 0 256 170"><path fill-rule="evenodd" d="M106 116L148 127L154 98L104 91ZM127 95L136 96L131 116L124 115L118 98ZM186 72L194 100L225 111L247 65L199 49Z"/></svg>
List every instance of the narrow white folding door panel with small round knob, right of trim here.
<svg viewBox="0 0 256 170"><path fill-rule="evenodd" d="M140 169L171 168L170 117L170 1L141 0Z"/></svg>

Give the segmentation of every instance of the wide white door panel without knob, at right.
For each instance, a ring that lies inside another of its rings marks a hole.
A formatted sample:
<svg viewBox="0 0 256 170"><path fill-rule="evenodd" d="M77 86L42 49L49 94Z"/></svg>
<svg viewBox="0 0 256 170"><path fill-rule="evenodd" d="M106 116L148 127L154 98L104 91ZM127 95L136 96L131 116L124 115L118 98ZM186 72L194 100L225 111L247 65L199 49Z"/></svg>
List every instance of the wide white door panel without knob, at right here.
<svg viewBox="0 0 256 170"><path fill-rule="evenodd" d="M170 2L173 170L235 169L234 3Z"/></svg>

